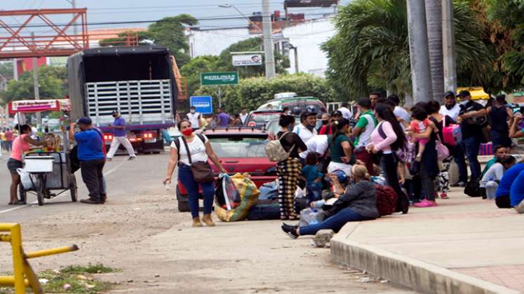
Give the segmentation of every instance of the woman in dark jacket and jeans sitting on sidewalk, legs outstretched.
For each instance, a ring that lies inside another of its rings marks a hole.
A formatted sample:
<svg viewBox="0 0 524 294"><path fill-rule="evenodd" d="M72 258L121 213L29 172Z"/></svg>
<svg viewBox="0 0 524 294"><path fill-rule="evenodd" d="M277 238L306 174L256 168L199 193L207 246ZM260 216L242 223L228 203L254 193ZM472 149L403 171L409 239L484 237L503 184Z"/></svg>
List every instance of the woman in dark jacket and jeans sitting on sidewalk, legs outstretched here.
<svg viewBox="0 0 524 294"><path fill-rule="evenodd" d="M335 193L340 194L338 201L344 202L347 207L316 225L299 228L297 225L283 224L281 228L285 235L297 239L299 236L315 235L319 230L331 229L338 232L349 221L368 221L379 217L375 183L370 181L368 170L363 165L354 165L351 168L351 176L355 183L348 186L344 192L337 176L330 175L335 186Z"/></svg>

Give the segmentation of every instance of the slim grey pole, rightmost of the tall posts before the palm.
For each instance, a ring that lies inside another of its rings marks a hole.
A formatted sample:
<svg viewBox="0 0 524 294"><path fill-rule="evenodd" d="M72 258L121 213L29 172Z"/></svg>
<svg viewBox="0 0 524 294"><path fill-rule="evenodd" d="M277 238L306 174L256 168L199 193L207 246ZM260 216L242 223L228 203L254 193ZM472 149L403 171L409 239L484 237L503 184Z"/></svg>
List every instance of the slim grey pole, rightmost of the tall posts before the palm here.
<svg viewBox="0 0 524 294"><path fill-rule="evenodd" d="M457 63L455 62L455 31L453 0L442 1L442 48L444 60L444 90L457 92Z"/></svg>

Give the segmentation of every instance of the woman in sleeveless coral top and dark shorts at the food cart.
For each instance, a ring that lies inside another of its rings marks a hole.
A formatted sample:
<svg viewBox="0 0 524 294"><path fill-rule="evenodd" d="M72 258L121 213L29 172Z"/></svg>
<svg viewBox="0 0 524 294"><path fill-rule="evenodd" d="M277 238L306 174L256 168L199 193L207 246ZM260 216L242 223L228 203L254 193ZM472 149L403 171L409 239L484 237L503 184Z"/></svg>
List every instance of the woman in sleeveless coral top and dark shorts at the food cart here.
<svg viewBox="0 0 524 294"><path fill-rule="evenodd" d="M9 205L25 204L16 197L16 188L20 183L20 175L16 172L16 169L22 168L22 152L29 151L29 144L33 146L44 146L46 141L34 141L31 139L31 127L29 125L16 126L15 130L20 131L20 136L16 137L13 141L13 147L11 148L11 156L7 161L7 168L11 172L11 187L10 194L11 200Z"/></svg>

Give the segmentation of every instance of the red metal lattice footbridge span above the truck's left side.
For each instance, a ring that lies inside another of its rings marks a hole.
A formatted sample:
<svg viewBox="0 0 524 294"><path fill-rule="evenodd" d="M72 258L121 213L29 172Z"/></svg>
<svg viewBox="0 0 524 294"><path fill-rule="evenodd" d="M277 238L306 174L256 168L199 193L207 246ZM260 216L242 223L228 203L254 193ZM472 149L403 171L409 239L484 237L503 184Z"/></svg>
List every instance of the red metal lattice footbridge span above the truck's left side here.
<svg viewBox="0 0 524 294"><path fill-rule="evenodd" d="M0 10L0 28L8 32L7 36L0 36L0 59L69 56L88 49L86 12L86 8ZM56 25L52 20L55 15L69 15L71 19L65 25ZM26 18L20 25L13 25L11 17L15 16ZM75 24L78 20L80 22ZM31 22L36 22L40 30L51 29L52 34L32 36ZM68 33L73 25L79 26L78 35Z"/></svg>

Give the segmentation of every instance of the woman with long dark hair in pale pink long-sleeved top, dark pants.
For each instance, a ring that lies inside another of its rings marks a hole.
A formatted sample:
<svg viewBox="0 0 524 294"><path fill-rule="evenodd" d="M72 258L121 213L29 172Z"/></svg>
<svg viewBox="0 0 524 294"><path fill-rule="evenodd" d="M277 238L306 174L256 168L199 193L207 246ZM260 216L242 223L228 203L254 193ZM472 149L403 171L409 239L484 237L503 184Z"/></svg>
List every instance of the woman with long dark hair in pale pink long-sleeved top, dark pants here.
<svg viewBox="0 0 524 294"><path fill-rule="evenodd" d="M382 153L380 155L380 167L386 176L387 185L391 186L398 196L396 211L407 214L410 203L408 196L403 193L401 185L398 183L398 159L394 154L395 151L405 145L405 135L388 105L377 104L375 106L375 118L377 118L378 125L371 134L372 142L368 144L367 149L368 152L373 154Z"/></svg>

